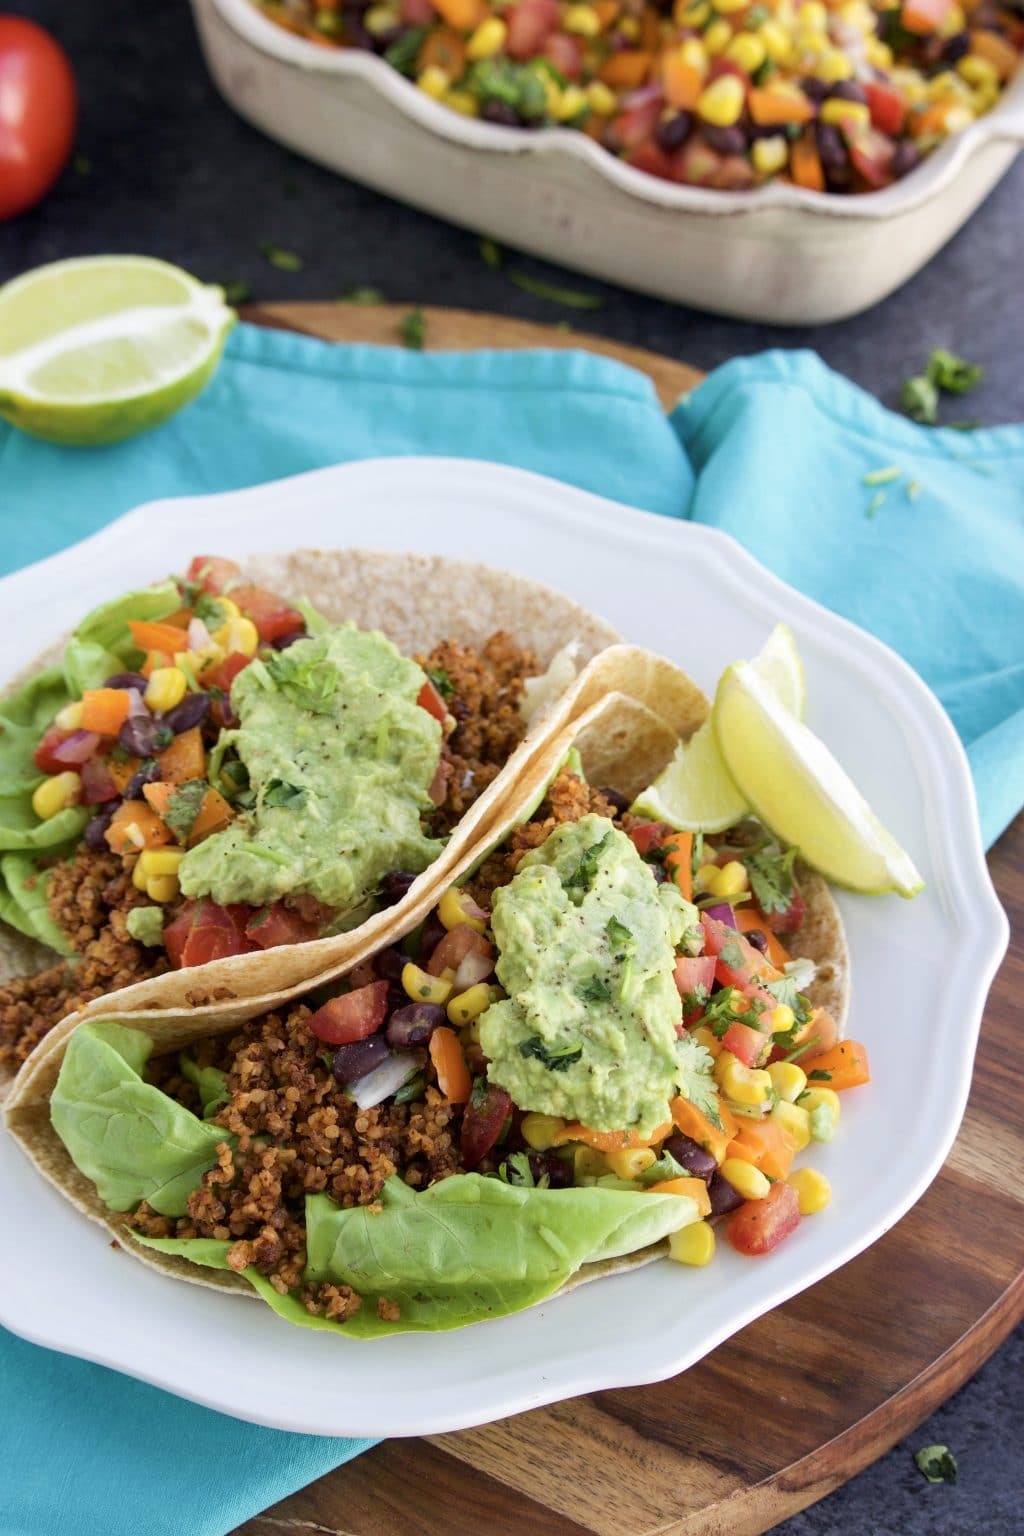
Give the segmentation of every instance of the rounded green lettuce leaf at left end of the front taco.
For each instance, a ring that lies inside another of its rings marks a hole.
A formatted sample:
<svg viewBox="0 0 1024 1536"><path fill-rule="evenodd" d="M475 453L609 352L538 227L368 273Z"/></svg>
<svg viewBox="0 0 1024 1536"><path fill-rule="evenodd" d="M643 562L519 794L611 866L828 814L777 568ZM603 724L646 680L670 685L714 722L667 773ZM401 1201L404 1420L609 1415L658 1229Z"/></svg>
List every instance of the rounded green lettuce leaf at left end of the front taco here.
<svg viewBox="0 0 1024 1536"><path fill-rule="evenodd" d="M51 1120L75 1167L111 1210L147 1200L164 1217L184 1215L189 1195L235 1138L207 1126L143 1081L152 1040L121 1025L83 1025L71 1037Z"/></svg>

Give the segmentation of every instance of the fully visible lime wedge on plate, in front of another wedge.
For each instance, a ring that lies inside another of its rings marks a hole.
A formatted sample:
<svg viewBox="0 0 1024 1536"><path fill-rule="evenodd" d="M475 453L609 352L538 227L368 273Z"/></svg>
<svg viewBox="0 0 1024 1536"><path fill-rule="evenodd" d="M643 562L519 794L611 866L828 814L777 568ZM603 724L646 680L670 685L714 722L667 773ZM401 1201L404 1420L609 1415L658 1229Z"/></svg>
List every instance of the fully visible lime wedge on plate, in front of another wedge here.
<svg viewBox="0 0 1024 1536"><path fill-rule="evenodd" d="M718 684L711 714L722 756L754 814L835 885L915 895L923 880L824 742L749 662Z"/></svg>

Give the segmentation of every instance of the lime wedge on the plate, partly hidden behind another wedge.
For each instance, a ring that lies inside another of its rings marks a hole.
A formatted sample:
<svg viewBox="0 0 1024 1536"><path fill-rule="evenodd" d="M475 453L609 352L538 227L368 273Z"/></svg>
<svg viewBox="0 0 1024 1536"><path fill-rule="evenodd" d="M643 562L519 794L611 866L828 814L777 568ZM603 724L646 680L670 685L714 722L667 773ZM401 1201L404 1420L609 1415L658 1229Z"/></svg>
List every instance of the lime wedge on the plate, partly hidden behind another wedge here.
<svg viewBox="0 0 1024 1536"><path fill-rule="evenodd" d="M775 625L760 654L748 665L777 694L783 708L803 716L803 664L786 624ZM680 742L668 768L631 806L636 816L668 822L680 833L722 833L740 822L748 808L718 751L711 720L705 720L688 742Z"/></svg>

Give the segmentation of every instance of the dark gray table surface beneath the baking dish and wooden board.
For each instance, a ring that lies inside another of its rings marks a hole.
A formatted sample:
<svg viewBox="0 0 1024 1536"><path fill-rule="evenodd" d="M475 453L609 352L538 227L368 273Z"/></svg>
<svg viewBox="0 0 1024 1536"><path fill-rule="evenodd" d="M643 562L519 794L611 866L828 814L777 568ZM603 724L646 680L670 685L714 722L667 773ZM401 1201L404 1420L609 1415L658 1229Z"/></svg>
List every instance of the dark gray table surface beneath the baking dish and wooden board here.
<svg viewBox="0 0 1024 1536"><path fill-rule="evenodd" d="M8 0L5 9L49 26L68 48L81 91L78 147L91 170L68 170L41 207L0 226L0 281L58 257L143 252L210 281L246 281L256 300L336 298L372 284L395 301L570 318L702 369L763 347L809 346L890 404L929 350L946 346L986 367L956 415L1024 419L1024 160L912 284L840 326L742 324L524 260L537 276L600 293L603 307L580 316L491 272L474 235L307 164L239 121L206 75L184 0ZM264 241L298 252L302 270L270 267ZM955 1487L926 1484L913 1465L912 1452L933 1442L960 1458ZM1024 1332L915 1435L777 1530L1021 1536Z"/></svg>

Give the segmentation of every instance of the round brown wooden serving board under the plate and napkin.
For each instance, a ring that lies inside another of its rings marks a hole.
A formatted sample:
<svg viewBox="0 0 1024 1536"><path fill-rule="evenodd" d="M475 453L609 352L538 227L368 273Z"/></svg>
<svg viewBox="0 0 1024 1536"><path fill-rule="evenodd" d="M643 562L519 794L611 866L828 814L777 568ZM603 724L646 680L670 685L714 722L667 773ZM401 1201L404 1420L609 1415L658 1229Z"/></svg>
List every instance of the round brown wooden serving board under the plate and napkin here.
<svg viewBox="0 0 1024 1536"><path fill-rule="evenodd" d="M404 313L275 304L246 318L395 343ZM666 407L700 378L596 336L461 310L425 316L433 347L586 346L620 358L651 375ZM1016 931L1024 817L989 865ZM860 1258L672 1381L385 1441L238 1536L757 1536L837 1488L944 1402L1024 1316L1024 1098L1007 1068L1022 992L1018 946L992 988L946 1167Z"/></svg>

